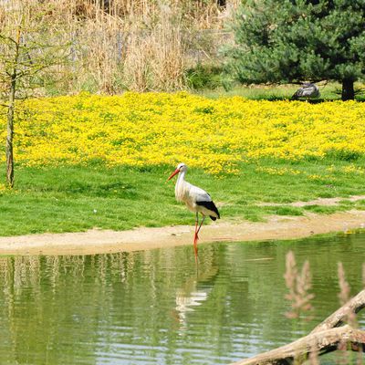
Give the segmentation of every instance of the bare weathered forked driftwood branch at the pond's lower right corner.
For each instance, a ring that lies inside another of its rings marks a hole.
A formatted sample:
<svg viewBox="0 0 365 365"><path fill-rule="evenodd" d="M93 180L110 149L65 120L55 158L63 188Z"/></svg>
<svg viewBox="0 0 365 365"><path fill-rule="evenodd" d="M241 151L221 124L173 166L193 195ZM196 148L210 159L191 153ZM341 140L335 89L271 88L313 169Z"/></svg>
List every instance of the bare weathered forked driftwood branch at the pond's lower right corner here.
<svg viewBox="0 0 365 365"><path fill-rule="evenodd" d="M365 331L352 328L349 325L341 326L350 313L358 313L365 307L365 290L349 300L344 306L331 314L322 323L308 334L285 346L272 349L256 355L251 359L240 360L232 365L254 364L288 364L294 360L307 360L310 353L323 355L334 351L345 343L346 349L353 351L365 350Z"/></svg>

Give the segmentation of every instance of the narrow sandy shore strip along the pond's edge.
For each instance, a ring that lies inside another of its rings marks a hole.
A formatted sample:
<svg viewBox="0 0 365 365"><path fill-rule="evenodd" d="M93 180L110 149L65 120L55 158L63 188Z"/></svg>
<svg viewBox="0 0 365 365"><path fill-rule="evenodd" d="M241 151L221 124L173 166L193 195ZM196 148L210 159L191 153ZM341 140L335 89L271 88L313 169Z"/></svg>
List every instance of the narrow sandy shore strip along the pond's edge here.
<svg viewBox="0 0 365 365"><path fill-rule="evenodd" d="M365 211L306 216L269 216L266 223L221 220L204 225L200 244L301 238L365 227ZM88 255L192 245L193 225L138 228L129 231L89 230L84 233L0 237L0 255Z"/></svg>

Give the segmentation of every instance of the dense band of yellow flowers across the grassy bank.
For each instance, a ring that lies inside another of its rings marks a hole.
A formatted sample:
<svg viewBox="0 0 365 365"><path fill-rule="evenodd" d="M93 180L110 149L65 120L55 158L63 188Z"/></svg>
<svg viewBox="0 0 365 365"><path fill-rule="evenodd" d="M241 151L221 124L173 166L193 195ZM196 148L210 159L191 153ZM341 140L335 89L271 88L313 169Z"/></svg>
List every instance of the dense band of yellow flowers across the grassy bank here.
<svg viewBox="0 0 365 365"><path fill-rule="evenodd" d="M185 162L220 173L261 157L365 153L365 104L360 102L213 100L182 92L80 94L28 99L18 106L16 162L28 166ZM0 140L5 141L1 118Z"/></svg>

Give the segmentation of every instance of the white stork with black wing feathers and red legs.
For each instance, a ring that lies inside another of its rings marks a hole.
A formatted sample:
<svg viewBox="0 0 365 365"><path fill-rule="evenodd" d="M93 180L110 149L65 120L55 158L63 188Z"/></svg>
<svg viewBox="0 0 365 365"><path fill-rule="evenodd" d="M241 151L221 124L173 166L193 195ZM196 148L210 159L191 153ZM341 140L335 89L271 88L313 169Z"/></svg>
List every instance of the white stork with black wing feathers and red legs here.
<svg viewBox="0 0 365 365"><path fill-rule="evenodd" d="M220 218L219 212L209 193L206 193L203 189L192 185L185 181L185 173L188 167L184 163L179 163L177 168L170 177L168 181L172 179L173 176L180 173L176 185L175 185L175 197L178 202L185 203L187 208L195 213L195 232L193 237L193 247L195 253L195 261L197 262L198 257L198 234L207 215L215 221ZM199 224L199 213L203 215L202 222ZM199 224L199 227L198 227Z"/></svg>

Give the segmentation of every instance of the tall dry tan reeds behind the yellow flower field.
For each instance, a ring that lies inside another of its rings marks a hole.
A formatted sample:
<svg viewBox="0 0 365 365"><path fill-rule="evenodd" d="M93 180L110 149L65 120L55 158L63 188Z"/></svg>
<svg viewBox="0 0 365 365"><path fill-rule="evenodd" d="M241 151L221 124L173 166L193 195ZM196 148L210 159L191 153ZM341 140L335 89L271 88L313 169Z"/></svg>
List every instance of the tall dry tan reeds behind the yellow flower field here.
<svg viewBox="0 0 365 365"><path fill-rule="evenodd" d="M45 7L36 0L26 3ZM0 10L15 12L19 4L25 2L0 3ZM54 88L47 91L186 88L186 69L216 57L224 42L206 29L222 29L229 8L236 5L238 0L227 1L226 7L216 0L50 0L49 21L62 19L64 43L71 46L68 65L57 69L62 82L49 75Z"/></svg>

